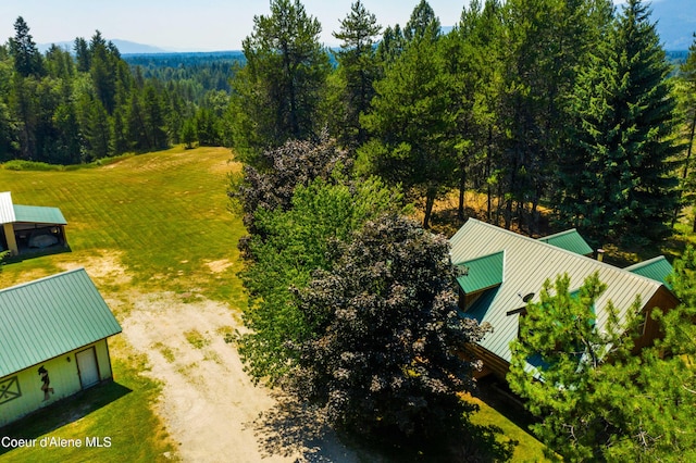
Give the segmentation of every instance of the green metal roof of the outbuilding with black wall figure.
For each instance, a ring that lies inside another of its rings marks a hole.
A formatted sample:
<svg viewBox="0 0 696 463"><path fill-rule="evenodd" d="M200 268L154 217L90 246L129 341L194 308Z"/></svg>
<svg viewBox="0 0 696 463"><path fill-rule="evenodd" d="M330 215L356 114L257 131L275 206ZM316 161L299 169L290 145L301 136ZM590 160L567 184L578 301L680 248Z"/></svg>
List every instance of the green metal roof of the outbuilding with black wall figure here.
<svg viewBox="0 0 696 463"><path fill-rule="evenodd" d="M0 290L0 377L119 333L84 268Z"/></svg>

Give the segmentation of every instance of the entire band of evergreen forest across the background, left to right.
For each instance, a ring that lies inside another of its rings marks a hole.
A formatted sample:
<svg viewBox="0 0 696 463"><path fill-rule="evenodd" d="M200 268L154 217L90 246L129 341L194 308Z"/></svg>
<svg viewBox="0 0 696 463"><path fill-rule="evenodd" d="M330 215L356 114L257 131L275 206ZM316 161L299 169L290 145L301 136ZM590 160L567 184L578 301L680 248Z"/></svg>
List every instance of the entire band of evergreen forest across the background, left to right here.
<svg viewBox="0 0 696 463"><path fill-rule="evenodd" d="M356 1L330 52L302 3L277 0L243 52L126 57L130 70L99 34L78 38L74 59L42 57L22 21L0 48L0 157L75 163L198 142L258 164L327 129L361 153L360 172L417 199L425 225L453 188L464 218L473 189L506 227L537 233L544 208L596 245L644 245L679 215L679 174L694 189L679 168L688 60L670 67L649 14L642 1L474 0L443 34L421 1L380 37Z"/></svg>

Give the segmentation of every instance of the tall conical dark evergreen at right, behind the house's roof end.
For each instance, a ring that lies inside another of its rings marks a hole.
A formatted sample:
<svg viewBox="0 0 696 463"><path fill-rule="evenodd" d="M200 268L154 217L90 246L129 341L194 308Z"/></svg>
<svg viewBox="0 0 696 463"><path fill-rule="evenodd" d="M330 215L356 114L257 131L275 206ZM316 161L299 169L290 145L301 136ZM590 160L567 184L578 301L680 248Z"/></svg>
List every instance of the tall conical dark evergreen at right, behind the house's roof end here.
<svg viewBox="0 0 696 463"><path fill-rule="evenodd" d="M649 14L629 0L575 89L560 212L597 245L664 237L678 200L670 67Z"/></svg>

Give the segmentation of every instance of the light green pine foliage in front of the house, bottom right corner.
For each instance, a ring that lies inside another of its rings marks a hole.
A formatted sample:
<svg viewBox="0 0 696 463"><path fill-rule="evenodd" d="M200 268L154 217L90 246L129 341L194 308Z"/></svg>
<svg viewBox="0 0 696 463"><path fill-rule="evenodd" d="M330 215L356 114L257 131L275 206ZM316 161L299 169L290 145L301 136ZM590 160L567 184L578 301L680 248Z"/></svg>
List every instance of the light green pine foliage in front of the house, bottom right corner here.
<svg viewBox="0 0 696 463"><path fill-rule="evenodd" d="M571 461L685 461L694 458L694 252L675 263L683 305L658 313L664 339L632 354L641 303L620 321L609 303L596 326L594 304L606 285L594 275L577 292L568 277L527 305L512 346L513 391L539 418L535 434ZM536 371L526 370L527 362ZM537 379L534 378L538 375Z"/></svg>

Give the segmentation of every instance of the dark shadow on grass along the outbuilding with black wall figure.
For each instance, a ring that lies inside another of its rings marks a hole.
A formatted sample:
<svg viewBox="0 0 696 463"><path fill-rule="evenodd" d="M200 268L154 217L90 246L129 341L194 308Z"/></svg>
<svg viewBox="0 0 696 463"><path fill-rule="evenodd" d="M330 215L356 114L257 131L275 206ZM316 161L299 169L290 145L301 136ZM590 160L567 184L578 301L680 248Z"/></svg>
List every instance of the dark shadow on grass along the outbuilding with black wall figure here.
<svg viewBox="0 0 696 463"><path fill-rule="evenodd" d="M75 396L60 400L4 427L0 437L36 439L66 424L76 422L133 390L114 381L105 381ZM0 446L0 455L13 450Z"/></svg>

